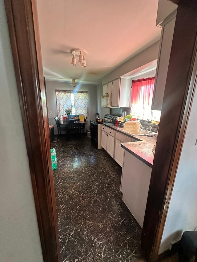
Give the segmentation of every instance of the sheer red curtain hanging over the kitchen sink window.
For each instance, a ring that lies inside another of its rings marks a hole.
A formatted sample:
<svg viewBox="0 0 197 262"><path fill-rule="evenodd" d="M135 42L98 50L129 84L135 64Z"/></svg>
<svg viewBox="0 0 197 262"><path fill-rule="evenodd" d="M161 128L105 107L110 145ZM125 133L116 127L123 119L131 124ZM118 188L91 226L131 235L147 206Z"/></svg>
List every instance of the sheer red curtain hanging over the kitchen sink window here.
<svg viewBox="0 0 197 262"><path fill-rule="evenodd" d="M155 84L155 76L149 78L141 78L132 81L131 105L138 104L143 88L143 104L145 106L152 104L153 89Z"/></svg>

